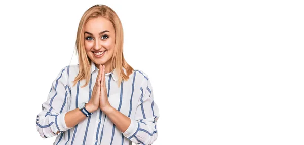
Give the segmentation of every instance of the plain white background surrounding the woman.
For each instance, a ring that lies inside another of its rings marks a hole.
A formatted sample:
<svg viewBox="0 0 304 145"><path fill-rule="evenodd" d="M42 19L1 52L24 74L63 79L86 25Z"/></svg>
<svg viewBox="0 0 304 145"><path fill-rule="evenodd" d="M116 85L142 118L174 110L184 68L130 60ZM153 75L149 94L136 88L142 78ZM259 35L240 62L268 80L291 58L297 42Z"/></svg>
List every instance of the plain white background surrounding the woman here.
<svg viewBox="0 0 304 145"><path fill-rule="evenodd" d="M301 1L0 3L1 144L53 143L36 116L95 4L117 12L125 58L151 80L154 144L304 144Z"/></svg>

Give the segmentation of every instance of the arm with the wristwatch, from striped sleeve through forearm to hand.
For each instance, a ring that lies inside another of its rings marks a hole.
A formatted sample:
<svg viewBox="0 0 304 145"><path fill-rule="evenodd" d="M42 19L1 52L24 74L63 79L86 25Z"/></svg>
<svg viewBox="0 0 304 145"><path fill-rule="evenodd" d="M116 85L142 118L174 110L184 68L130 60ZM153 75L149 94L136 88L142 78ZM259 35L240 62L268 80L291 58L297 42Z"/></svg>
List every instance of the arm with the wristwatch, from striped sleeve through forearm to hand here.
<svg viewBox="0 0 304 145"><path fill-rule="evenodd" d="M57 76L57 79L53 82L51 91L48 96L48 101L43 103L43 111L37 116L37 131L43 138L49 138L54 135L58 135L60 132L64 132L72 128L86 118L86 116L78 108L67 112L67 98L71 95L69 93L70 90L67 85L68 67L69 66L63 68ZM101 78L99 80L101 80ZM98 88L100 87L100 83L95 86L93 89L92 98L86 105L86 109L89 112L94 112L98 108L99 96L96 96L94 94L100 93L97 91L100 90ZM94 103L94 101L97 102L97 104Z"/></svg>

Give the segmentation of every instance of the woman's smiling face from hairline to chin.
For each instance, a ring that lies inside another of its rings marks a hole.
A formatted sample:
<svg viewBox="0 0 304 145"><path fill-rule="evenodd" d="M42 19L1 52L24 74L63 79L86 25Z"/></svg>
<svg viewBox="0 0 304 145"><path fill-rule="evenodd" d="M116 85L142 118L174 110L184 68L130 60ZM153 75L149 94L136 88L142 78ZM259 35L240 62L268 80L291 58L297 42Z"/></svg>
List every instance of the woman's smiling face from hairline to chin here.
<svg viewBox="0 0 304 145"><path fill-rule="evenodd" d="M115 48L115 30L103 17L90 19L85 25L85 49L96 66L111 64Z"/></svg>

